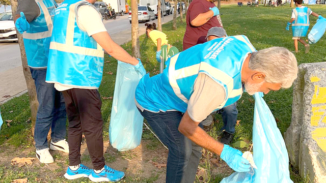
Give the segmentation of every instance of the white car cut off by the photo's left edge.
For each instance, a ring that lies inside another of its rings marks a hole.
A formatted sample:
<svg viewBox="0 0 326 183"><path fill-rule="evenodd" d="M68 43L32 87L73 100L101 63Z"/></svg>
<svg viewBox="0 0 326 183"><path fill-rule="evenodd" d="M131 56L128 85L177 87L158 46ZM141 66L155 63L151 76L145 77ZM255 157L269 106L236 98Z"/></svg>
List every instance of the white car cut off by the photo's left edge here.
<svg viewBox="0 0 326 183"><path fill-rule="evenodd" d="M3 41L18 41L11 11L7 11L0 15L0 42Z"/></svg>

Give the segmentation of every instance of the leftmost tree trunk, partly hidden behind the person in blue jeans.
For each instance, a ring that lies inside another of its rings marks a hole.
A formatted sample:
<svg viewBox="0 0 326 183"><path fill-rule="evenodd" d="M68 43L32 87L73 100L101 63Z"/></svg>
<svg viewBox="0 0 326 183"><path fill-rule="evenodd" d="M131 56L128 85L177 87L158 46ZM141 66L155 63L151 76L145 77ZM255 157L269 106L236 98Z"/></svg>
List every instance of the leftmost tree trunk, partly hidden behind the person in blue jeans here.
<svg viewBox="0 0 326 183"><path fill-rule="evenodd" d="M11 0L11 10L12 15L16 15L17 11L17 0ZM18 44L20 48L20 56L21 56L21 63L22 63L22 70L24 73L24 77L26 80L27 90L29 92L29 100L30 100L30 107L31 107L31 118L32 118L32 133L34 135L34 129L35 129L35 121L36 121L36 114L37 114L37 108L39 106L39 103L37 101L37 95L36 95L36 88L35 83L31 75L30 67L27 64L27 58L25 53L25 46L22 39L22 35L17 32L18 37Z"/></svg>

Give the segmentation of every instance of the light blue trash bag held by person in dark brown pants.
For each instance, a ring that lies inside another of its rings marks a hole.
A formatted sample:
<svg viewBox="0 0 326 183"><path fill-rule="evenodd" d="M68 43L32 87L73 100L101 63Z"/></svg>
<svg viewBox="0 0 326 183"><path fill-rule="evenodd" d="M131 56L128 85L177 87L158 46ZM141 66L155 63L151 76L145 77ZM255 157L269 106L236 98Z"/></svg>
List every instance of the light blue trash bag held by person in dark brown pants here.
<svg viewBox="0 0 326 183"><path fill-rule="evenodd" d="M118 60L109 135L111 145L119 151L141 143L144 118L136 107L134 93L142 77L132 65Z"/></svg>

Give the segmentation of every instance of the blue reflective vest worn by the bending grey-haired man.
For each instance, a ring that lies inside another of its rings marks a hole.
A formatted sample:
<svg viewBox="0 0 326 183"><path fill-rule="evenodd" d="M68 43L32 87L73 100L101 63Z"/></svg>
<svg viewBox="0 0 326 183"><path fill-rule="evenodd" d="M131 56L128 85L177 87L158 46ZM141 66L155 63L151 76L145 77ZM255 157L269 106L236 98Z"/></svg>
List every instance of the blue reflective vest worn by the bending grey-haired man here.
<svg viewBox="0 0 326 183"><path fill-rule="evenodd" d="M241 68L255 51L246 36L218 38L182 51L167 61L163 73L145 75L135 92L136 102L151 112L185 112L199 73L205 73L225 89L222 109L240 99L243 88Z"/></svg>

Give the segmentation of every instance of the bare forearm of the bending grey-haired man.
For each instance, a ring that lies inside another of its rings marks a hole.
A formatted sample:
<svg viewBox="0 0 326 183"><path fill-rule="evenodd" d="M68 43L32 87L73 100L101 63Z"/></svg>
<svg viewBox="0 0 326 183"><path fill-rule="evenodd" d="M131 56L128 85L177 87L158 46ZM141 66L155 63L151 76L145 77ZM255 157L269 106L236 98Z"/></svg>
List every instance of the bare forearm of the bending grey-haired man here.
<svg viewBox="0 0 326 183"><path fill-rule="evenodd" d="M192 120L188 112L183 114L179 125L179 131L196 144L204 147L217 155L221 155L224 144L215 140L198 126L199 123Z"/></svg>

